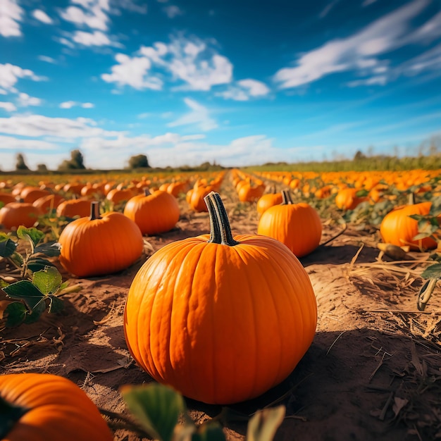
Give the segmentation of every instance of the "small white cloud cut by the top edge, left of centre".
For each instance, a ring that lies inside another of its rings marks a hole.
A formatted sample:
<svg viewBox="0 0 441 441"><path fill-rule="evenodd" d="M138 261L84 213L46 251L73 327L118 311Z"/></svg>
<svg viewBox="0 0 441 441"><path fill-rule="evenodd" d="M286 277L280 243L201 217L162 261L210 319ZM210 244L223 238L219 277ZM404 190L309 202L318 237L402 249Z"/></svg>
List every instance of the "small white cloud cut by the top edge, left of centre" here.
<svg viewBox="0 0 441 441"><path fill-rule="evenodd" d="M60 15L63 20L75 25L85 25L92 29L106 31L108 29L108 0L73 1L78 6L68 6Z"/></svg>

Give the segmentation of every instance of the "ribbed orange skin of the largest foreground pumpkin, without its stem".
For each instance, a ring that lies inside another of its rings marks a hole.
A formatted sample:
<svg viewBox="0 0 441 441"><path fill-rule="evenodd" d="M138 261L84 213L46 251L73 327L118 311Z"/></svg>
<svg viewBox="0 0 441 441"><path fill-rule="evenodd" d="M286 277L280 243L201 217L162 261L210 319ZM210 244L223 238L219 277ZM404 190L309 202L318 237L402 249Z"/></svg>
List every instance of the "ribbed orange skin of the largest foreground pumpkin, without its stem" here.
<svg viewBox="0 0 441 441"><path fill-rule="evenodd" d="M166 245L139 270L125 305L132 356L159 383L232 404L287 378L309 348L317 306L309 276L278 241L208 235Z"/></svg>

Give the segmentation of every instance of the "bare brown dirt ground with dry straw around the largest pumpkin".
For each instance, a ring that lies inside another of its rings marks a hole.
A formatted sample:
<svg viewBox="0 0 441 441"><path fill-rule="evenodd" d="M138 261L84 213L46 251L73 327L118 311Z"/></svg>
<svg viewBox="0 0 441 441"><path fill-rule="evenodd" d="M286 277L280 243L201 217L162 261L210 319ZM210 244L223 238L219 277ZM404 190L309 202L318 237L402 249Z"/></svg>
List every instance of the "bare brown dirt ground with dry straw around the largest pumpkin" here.
<svg viewBox="0 0 441 441"><path fill-rule="evenodd" d="M223 193L221 192L221 195ZM223 197L233 234L256 232L255 205ZM147 237L146 254L115 275L75 279L82 290L66 294L63 313L20 328L1 330L0 373L49 372L80 385L102 409L123 412L118 387L151 382L130 359L123 334L125 297L135 273L163 245L209 232L206 213L182 217L168 233ZM323 219L322 242L340 229ZM416 308L419 274L428 254L399 263L376 247L378 233L349 225L335 240L301 259L318 302L316 337L285 382L251 402L231 406L238 415L275 404L286 416L275 440L441 439L441 292L424 312ZM0 272L4 271L1 266ZM188 400L197 422L220 406ZM111 423L111 421L110 421ZM247 422L225 423L228 440L243 440ZM116 430L115 440L138 440Z"/></svg>

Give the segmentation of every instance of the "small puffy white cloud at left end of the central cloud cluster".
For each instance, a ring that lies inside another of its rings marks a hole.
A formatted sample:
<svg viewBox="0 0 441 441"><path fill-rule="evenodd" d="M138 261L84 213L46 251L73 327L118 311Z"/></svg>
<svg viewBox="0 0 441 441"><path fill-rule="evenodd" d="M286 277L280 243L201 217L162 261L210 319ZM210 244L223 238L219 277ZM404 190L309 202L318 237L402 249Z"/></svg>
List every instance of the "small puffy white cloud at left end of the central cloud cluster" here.
<svg viewBox="0 0 441 441"><path fill-rule="evenodd" d="M149 76L151 61L149 58L117 54L115 57L119 64L112 66L112 73L103 73L101 78L105 82L115 82L118 86L131 86L134 89L161 90L162 81L158 77Z"/></svg>

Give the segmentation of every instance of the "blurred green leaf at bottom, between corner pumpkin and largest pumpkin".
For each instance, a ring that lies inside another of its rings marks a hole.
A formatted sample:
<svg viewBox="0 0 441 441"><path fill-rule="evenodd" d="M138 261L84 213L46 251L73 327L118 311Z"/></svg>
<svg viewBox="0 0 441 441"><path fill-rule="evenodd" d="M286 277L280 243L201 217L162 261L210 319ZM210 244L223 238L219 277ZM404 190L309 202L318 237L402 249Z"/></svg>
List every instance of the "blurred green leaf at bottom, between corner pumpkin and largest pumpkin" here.
<svg viewBox="0 0 441 441"><path fill-rule="evenodd" d="M125 386L121 395L147 433L157 440L172 440L179 416L186 411L182 395L158 384Z"/></svg>

